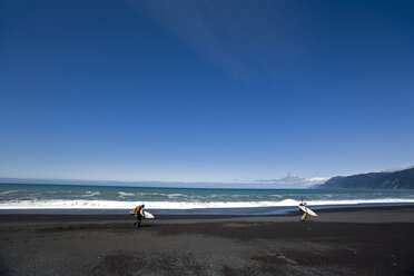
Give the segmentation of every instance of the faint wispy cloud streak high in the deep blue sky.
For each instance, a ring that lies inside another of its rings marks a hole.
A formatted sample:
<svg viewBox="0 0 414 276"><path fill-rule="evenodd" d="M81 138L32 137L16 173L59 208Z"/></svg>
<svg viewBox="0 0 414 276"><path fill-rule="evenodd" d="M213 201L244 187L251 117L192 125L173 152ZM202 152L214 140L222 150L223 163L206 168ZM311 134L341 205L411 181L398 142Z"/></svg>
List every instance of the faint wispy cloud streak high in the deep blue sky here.
<svg viewBox="0 0 414 276"><path fill-rule="evenodd" d="M283 1L130 0L194 52L228 76L256 81L280 66L297 40L300 22L285 14ZM296 34L294 34L296 33ZM260 76L260 77L259 77Z"/></svg>

